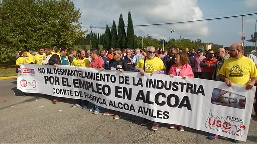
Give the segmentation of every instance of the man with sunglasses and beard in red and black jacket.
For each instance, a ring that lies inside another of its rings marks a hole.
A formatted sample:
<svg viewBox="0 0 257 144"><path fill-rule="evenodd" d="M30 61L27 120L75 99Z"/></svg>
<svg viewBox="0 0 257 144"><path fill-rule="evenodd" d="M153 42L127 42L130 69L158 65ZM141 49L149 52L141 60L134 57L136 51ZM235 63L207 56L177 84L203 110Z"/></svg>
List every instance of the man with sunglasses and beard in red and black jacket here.
<svg viewBox="0 0 257 144"><path fill-rule="evenodd" d="M202 67L202 78L212 80L212 73L215 69L217 59L214 57L214 51L212 49L207 50L207 58L204 58L200 67Z"/></svg>

